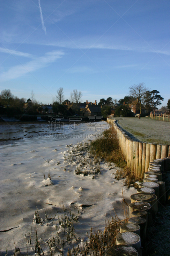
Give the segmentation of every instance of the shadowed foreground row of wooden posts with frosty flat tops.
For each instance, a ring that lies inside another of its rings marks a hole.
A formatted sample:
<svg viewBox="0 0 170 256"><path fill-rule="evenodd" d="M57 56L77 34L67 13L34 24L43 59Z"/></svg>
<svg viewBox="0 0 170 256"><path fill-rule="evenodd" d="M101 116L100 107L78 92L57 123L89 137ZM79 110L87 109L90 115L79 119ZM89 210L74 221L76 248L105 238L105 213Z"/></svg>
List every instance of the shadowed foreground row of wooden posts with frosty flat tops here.
<svg viewBox="0 0 170 256"><path fill-rule="evenodd" d="M170 157L150 162L149 172L145 173L137 193L130 196L128 222L120 226L120 232L116 235L116 246L108 249L106 256L142 255L147 228L152 225L152 219L155 218L159 205L166 203L163 172L170 172Z"/></svg>

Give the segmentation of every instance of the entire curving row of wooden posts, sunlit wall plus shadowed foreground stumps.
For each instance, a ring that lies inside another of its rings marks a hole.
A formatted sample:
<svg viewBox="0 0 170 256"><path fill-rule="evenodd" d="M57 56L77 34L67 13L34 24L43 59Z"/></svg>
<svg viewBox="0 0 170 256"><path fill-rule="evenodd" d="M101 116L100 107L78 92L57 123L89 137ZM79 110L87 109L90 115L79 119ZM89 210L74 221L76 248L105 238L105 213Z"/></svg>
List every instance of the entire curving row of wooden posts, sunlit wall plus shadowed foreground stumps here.
<svg viewBox="0 0 170 256"><path fill-rule="evenodd" d="M113 124L117 131L128 166L137 177L143 178L143 182L139 182L137 193L130 196L128 222L120 226L116 246L109 248L106 256L141 256L147 227L151 226L159 204L166 203L162 173L170 172L170 146L133 141L115 121L107 122Z"/></svg>

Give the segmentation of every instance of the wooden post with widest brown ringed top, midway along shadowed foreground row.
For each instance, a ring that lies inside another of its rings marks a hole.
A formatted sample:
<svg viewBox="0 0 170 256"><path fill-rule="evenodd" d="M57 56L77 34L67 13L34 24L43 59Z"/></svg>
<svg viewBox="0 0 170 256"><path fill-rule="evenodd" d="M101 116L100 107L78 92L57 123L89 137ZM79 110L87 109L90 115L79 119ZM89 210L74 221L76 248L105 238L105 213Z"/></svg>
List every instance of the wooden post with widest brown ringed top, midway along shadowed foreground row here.
<svg viewBox="0 0 170 256"><path fill-rule="evenodd" d="M155 215L158 212L158 202L157 202L157 196L154 194L133 194L130 196L131 203L135 202L147 202L151 204L152 206L152 216L155 217Z"/></svg>

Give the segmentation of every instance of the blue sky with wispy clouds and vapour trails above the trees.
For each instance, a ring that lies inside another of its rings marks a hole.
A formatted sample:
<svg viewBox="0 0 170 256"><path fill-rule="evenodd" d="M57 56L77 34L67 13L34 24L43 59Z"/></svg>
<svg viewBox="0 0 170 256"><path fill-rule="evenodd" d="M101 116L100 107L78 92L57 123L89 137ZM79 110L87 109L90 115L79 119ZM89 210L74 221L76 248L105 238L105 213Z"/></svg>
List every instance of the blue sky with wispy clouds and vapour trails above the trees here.
<svg viewBox="0 0 170 256"><path fill-rule="evenodd" d="M170 1L8 0L0 10L0 90L51 103L123 98L144 82L170 98Z"/></svg>

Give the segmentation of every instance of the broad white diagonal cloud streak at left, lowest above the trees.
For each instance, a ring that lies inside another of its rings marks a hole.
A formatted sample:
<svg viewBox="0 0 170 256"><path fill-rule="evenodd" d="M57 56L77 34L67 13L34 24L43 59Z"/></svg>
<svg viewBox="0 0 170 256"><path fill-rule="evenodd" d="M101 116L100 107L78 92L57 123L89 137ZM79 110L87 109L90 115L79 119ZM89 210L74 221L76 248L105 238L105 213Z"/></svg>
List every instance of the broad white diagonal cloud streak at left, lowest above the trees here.
<svg viewBox="0 0 170 256"><path fill-rule="evenodd" d="M0 75L0 81L15 79L37 69L47 67L49 63L55 62L55 60L62 58L63 55L64 52L62 51L47 52L44 56L31 60L24 65L10 68Z"/></svg>

